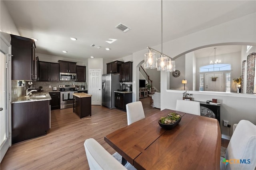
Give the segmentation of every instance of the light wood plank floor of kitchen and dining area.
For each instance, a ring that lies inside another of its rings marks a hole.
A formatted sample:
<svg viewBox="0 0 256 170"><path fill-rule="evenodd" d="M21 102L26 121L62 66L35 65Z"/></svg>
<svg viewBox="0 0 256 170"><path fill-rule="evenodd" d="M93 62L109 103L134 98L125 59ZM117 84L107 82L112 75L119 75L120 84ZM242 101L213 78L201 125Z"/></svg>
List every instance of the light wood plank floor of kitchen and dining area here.
<svg viewBox="0 0 256 170"><path fill-rule="evenodd" d="M150 106L149 98L141 101L146 117L160 111ZM89 170L84 140L94 138L114 154L116 151L104 141L104 136L127 125L126 112L98 105L92 106L92 117L84 119L79 119L73 108L52 110L51 114L52 127L47 135L11 146L1 162L1 170Z"/></svg>

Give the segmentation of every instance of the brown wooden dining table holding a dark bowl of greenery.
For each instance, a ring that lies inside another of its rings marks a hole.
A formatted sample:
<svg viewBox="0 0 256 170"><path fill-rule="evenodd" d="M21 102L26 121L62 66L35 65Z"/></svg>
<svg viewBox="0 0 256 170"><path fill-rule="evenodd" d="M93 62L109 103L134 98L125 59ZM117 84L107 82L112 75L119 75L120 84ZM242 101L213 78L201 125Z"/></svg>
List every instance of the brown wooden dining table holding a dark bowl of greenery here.
<svg viewBox="0 0 256 170"><path fill-rule="evenodd" d="M171 130L158 125L169 113L182 116ZM104 140L138 170L218 170L221 132L217 119L164 109L120 128Z"/></svg>

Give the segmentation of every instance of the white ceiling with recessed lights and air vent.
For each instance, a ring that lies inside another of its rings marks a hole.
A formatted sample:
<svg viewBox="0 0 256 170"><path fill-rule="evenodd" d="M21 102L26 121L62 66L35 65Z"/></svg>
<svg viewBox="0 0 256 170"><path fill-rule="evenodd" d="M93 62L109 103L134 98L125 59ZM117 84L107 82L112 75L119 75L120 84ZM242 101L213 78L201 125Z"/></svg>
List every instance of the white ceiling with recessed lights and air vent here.
<svg viewBox="0 0 256 170"><path fill-rule="evenodd" d="M38 39L36 53L115 60L161 43L160 0L2 2L20 36ZM255 6L255 0L164 0L163 42L252 14ZM116 29L119 23L131 30L124 33ZM109 38L117 41L109 44ZM92 44L102 48L91 47ZM106 51L106 47L111 50ZM63 50L68 53L62 53Z"/></svg>

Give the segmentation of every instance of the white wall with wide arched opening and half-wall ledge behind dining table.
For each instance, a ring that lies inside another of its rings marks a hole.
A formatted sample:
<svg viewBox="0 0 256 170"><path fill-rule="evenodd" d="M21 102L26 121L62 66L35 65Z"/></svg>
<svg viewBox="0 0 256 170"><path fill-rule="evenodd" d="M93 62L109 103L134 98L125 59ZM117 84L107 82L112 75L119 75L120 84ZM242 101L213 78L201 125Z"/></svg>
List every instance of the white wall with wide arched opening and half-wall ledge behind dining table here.
<svg viewBox="0 0 256 170"><path fill-rule="evenodd" d="M245 27L246 26L246 27ZM170 57L175 57L177 55L183 55L189 51L194 51L199 47L204 47L207 45L228 45L228 43L256 43L256 13L250 14L229 22L208 28L187 36L177 38L170 42L163 44L163 51L166 55ZM240 44L241 45L241 44ZM157 46L156 46L157 47ZM152 47L157 49L156 47ZM159 46L158 46L159 47ZM133 53L133 80L138 82L138 66L144 61L144 53L148 50L144 49L142 51L137 51ZM161 110L163 109L175 109L176 100L182 99L182 91L172 91L169 89L169 73L161 71ZM134 101L138 101L138 83L133 87ZM194 93L194 98L197 101L206 101L216 97L221 105L221 123L222 120L230 121L230 125L237 123L240 119L248 119L252 123L256 124L256 95L250 94L237 94L230 93L228 95L219 96L217 92L207 93L200 92L198 94ZM245 95L245 97L242 97ZM246 97L248 96L248 97ZM250 97L249 97L250 96ZM136 99L136 100L135 100ZM245 108L246 107L246 108ZM244 110L243 110L244 109ZM222 127L222 134L228 135L228 129Z"/></svg>

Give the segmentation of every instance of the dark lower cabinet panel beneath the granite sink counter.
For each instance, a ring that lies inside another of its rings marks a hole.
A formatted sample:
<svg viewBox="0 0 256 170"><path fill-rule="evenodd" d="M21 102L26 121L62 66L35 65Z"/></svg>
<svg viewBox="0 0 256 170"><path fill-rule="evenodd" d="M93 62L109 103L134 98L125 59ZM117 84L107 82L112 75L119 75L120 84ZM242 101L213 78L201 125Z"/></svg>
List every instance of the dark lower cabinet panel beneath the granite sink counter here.
<svg viewBox="0 0 256 170"><path fill-rule="evenodd" d="M49 100L12 104L12 144L43 136L49 129Z"/></svg>

